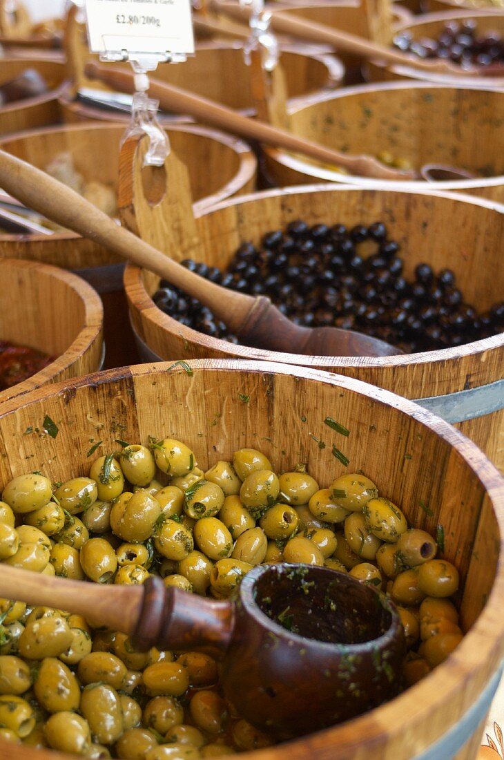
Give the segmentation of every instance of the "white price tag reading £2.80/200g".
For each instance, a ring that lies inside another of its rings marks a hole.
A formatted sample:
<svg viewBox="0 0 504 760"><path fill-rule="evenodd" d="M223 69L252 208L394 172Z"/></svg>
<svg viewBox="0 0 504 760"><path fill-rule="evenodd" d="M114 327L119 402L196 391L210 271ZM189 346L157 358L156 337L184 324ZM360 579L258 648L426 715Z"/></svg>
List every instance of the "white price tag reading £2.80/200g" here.
<svg viewBox="0 0 504 760"><path fill-rule="evenodd" d="M190 0L86 0L93 52L194 53Z"/></svg>

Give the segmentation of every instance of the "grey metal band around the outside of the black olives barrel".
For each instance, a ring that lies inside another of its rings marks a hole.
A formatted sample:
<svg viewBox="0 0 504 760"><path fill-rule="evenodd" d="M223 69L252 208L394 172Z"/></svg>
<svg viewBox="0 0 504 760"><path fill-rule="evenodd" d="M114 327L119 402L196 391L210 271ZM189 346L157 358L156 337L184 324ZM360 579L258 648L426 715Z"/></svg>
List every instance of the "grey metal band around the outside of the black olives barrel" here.
<svg viewBox="0 0 504 760"><path fill-rule="evenodd" d="M463 423L504 407L504 379L467 391L414 399L424 409L443 417L447 423Z"/></svg>

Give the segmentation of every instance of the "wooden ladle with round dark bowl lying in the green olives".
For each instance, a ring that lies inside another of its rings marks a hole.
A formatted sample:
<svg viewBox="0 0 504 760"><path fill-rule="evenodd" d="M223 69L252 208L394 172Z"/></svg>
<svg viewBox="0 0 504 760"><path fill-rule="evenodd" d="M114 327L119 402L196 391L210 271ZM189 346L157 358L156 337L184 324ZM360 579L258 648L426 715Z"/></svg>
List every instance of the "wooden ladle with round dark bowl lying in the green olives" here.
<svg viewBox="0 0 504 760"><path fill-rule="evenodd" d="M0 595L131 636L137 648L204 651L238 713L276 739L348 720L394 697L405 640L376 588L313 565L257 565L230 600L165 587L84 584L2 565Z"/></svg>

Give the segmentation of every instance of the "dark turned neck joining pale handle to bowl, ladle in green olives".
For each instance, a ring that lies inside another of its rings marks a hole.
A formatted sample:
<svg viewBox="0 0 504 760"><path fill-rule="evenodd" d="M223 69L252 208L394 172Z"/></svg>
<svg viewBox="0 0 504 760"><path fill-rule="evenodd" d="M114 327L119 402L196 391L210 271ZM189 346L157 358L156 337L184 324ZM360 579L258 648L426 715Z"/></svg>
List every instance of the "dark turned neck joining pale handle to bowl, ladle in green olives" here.
<svg viewBox="0 0 504 760"><path fill-rule="evenodd" d="M131 637L135 647L143 651L154 644L172 651L196 649L222 659L235 626L232 602L167 588L157 575L148 578L143 588L143 606Z"/></svg>

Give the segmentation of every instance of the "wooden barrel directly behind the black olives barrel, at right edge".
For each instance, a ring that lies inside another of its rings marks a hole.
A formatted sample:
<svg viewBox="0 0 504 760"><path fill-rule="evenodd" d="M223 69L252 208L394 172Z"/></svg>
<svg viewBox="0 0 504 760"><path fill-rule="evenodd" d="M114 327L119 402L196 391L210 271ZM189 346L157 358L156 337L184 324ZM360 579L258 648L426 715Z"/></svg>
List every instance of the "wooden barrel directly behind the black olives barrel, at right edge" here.
<svg viewBox="0 0 504 760"><path fill-rule="evenodd" d="M367 185L456 190L504 201L504 154L498 127L504 119L502 92L419 81L367 84L298 98L290 113L292 131L348 154L387 153L410 161L417 170L427 163L442 163L484 174L480 179L445 182L366 179ZM279 187L329 180L362 182L285 150L264 146L263 154L269 181Z"/></svg>

